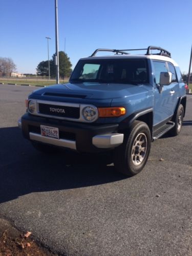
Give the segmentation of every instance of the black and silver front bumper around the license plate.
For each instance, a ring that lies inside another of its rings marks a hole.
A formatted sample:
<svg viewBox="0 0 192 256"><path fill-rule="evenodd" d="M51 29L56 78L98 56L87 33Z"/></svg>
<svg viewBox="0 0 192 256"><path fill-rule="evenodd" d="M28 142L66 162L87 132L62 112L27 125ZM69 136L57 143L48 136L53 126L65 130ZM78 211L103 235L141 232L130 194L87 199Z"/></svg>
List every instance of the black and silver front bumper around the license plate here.
<svg viewBox="0 0 192 256"><path fill-rule="evenodd" d="M58 127L59 139L40 135L40 125ZM123 134L118 133L118 124L84 124L32 116L26 113L18 126L26 139L70 148L78 152L99 152L119 146Z"/></svg>

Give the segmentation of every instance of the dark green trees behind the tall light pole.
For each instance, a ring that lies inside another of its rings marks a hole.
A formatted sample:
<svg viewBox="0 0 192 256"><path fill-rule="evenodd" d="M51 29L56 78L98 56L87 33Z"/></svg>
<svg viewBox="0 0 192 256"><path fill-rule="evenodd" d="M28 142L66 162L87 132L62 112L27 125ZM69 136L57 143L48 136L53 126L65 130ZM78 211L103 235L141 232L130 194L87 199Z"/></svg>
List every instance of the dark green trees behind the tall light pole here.
<svg viewBox="0 0 192 256"><path fill-rule="evenodd" d="M59 52L59 75L62 78L69 77L72 72L72 64L68 55L60 51ZM37 68L37 75L39 76L49 76L49 61L43 60L39 62ZM50 59L50 76L56 76L56 66L55 66L55 54L53 54L52 59Z"/></svg>

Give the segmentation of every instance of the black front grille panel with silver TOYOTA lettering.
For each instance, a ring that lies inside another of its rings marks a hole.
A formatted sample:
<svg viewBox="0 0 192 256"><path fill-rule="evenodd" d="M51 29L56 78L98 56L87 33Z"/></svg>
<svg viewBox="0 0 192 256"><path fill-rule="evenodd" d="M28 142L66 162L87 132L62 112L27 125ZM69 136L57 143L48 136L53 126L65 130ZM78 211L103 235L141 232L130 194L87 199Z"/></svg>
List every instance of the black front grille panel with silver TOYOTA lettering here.
<svg viewBox="0 0 192 256"><path fill-rule="evenodd" d="M49 116L79 118L79 108L39 103L39 113Z"/></svg>

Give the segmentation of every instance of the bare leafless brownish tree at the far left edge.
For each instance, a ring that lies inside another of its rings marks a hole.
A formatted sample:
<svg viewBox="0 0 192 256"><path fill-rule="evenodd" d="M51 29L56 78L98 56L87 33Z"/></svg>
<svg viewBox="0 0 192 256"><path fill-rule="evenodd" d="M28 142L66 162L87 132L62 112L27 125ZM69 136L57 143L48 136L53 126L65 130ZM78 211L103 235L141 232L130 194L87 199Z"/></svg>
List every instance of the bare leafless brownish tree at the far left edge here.
<svg viewBox="0 0 192 256"><path fill-rule="evenodd" d="M16 70L16 65L11 58L0 57L0 74L3 77L10 77Z"/></svg>

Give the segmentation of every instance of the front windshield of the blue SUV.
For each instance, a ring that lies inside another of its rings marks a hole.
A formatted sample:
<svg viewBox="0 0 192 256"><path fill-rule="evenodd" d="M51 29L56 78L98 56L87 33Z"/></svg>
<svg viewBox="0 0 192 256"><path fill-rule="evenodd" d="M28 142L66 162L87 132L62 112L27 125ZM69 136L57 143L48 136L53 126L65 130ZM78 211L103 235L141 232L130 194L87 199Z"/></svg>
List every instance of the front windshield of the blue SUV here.
<svg viewBox="0 0 192 256"><path fill-rule="evenodd" d="M146 59L79 60L70 82L147 83Z"/></svg>

